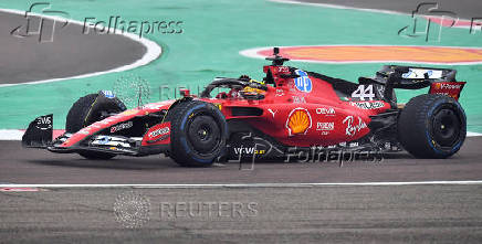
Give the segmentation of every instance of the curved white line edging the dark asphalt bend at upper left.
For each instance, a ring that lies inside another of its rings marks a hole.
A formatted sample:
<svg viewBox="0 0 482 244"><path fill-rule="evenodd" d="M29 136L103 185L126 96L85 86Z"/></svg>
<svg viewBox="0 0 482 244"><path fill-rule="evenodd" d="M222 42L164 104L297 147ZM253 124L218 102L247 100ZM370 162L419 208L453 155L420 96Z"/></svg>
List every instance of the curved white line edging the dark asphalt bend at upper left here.
<svg viewBox="0 0 482 244"><path fill-rule="evenodd" d="M20 10L14 10L14 9L0 9L0 12L9 12L9 13L14 13L14 14L25 14L25 11L20 11ZM51 19L51 20L59 20L59 21L69 21L70 23L74 23L74 24L80 24L83 26L83 22L81 21L76 21L76 20L71 20L71 19L65 19L65 18L61 18L61 17L50 17L50 15L42 15L42 14L38 14L38 13L29 13L30 15L35 15L35 17L42 17L45 19ZM101 28L101 26L98 26ZM108 30L111 30L112 32L114 32L114 28L108 28ZM109 32L109 33L112 33ZM87 73L87 74L82 74L82 75L75 75L75 76L70 76L70 77L62 77L62 78L51 78L51 79L42 79L42 81L34 81L34 82L25 82L25 83L17 83L17 84L0 84L0 87L7 87L7 86L17 86L17 85L24 85L24 84L42 84L42 83L51 83L51 82L61 82L61 81L65 81L65 79L71 79L71 78L85 78L85 77L92 77L92 76L96 76L96 75L103 75L103 74L107 74L107 73L114 73L114 72L123 72L123 71L128 71L135 67L139 67L143 65L146 65L150 62L153 62L154 60L156 60L157 57L159 57L159 55L161 54L161 47L145 38L140 38L136 34L133 33L128 33L128 32L124 32L122 33L120 30L116 30L115 32L117 35L123 35L126 36L135 42L139 42L140 44L143 44L146 47L146 53L144 54L143 57L140 57L139 60L135 61L132 64L127 64L124 66L119 66L119 67L115 67L108 71L101 71L101 72L94 72L94 73Z"/></svg>

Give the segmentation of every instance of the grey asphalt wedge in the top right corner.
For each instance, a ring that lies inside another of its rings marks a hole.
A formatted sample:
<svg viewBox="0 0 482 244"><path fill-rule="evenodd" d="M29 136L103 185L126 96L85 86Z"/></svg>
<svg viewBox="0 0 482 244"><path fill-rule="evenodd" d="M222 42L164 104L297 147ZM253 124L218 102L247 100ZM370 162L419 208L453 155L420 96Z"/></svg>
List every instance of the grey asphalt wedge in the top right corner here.
<svg viewBox="0 0 482 244"><path fill-rule="evenodd" d="M476 0L295 0L297 2L336 4L357 9L388 10L411 14L420 3L438 3L437 11L450 11L461 19L482 18L482 1ZM426 10L426 9L421 9ZM428 13L428 12L426 12ZM423 14L423 12L421 13Z"/></svg>

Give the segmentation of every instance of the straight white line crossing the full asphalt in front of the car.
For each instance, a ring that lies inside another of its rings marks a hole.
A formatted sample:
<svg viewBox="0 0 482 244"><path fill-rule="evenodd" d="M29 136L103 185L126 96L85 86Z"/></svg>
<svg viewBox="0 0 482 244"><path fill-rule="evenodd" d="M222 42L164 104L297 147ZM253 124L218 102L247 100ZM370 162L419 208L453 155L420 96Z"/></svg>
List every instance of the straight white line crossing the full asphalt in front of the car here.
<svg viewBox="0 0 482 244"><path fill-rule="evenodd" d="M482 180L469 181L408 181L408 182L346 182L346 183L219 183L219 184L0 184L0 188L311 188L311 187L396 187L396 185L468 185L482 184Z"/></svg>

